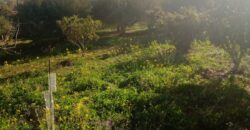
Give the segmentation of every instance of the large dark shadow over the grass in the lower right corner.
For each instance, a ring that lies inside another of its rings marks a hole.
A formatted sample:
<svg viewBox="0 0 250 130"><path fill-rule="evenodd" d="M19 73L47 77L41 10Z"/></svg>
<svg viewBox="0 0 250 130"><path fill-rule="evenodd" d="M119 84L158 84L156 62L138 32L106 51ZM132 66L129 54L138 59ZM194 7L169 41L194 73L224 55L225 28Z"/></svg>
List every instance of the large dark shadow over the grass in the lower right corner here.
<svg viewBox="0 0 250 130"><path fill-rule="evenodd" d="M249 107L249 93L237 86L179 86L156 96L139 97L133 108L131 127L249 129Z"/></svg>

